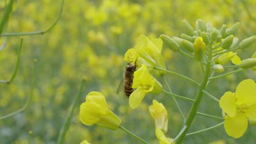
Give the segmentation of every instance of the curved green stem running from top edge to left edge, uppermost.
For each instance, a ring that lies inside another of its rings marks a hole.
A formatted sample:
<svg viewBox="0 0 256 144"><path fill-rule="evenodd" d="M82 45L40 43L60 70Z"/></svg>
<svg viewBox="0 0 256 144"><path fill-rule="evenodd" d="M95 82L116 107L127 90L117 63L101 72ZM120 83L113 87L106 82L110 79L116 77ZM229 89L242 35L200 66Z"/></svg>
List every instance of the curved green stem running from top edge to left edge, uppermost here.
<svg viewBox="0 0 256 144"><path fill-rule="evenodd" d="M12 0L13 1L13 0ZM57 24L57 22L59 21L62 12L63 12L63 7L64 7L64 0L62 0L61 2L61 8L57 14L57 17L55 18L55 20L53 21L53 23L46 28L45 30L39 30L39 31L35 31L35 32L20 32L20 33L6 33L6 34L1 34L0 36L28 36L28 35L43 35L46 32L50 31L53 27L55 27L55 25Z"/></svg>

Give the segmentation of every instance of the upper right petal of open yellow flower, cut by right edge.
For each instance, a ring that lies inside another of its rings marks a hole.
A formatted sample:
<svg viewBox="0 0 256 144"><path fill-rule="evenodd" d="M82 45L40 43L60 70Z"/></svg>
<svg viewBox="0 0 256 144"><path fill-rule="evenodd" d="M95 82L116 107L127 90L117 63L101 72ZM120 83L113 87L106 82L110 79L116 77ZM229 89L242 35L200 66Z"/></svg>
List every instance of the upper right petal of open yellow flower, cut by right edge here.
<svg viewBox="0 0 256 144"><path fill-rule="evenodd" d="M241 81L236 90L237 103L246 104L247 107L256 104L256 83L247 79Z"/></svg>

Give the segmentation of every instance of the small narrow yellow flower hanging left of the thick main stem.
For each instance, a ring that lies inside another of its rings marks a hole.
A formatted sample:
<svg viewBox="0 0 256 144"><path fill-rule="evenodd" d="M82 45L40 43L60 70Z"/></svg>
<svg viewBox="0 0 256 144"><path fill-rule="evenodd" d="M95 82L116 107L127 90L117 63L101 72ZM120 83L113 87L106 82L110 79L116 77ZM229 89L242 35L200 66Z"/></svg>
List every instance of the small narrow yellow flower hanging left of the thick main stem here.
<svg viewBox="0 0 256 144"><path fill-rule="evenodd" d="M155 119L155 129L159 128L166 133L168 129L168 120L165 106L154 99L153 105L149 106L148 109L151 116Z"/></svg>

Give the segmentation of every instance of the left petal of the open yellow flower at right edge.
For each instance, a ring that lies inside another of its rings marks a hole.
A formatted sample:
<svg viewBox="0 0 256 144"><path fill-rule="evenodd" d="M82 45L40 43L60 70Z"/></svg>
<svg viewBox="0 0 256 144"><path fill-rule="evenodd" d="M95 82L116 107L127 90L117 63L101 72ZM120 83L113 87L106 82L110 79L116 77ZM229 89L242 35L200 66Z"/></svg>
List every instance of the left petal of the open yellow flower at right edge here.
<svg viewBox="0 0 256 144"><path fill-rule="evenodd" d="M224 110L229 117L234 117L237 113L236 97L234 93L227 91L219 100L219 107Z"/></svg>

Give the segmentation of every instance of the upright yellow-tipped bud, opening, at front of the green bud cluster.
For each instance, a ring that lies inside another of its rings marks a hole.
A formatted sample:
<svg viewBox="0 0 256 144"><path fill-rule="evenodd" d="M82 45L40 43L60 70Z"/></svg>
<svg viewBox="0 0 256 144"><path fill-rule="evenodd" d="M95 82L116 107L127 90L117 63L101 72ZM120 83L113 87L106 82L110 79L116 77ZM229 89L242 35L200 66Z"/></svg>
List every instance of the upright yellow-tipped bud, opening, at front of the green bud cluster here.
<svg viewBox="0 0 256 144"><path fill-rule="evenodd" d="M203 42L202 37L197 37L194 43L194 49L195 49L195 60L201 61L203 58L204 50L205 50L205 44Z"/></svg>

